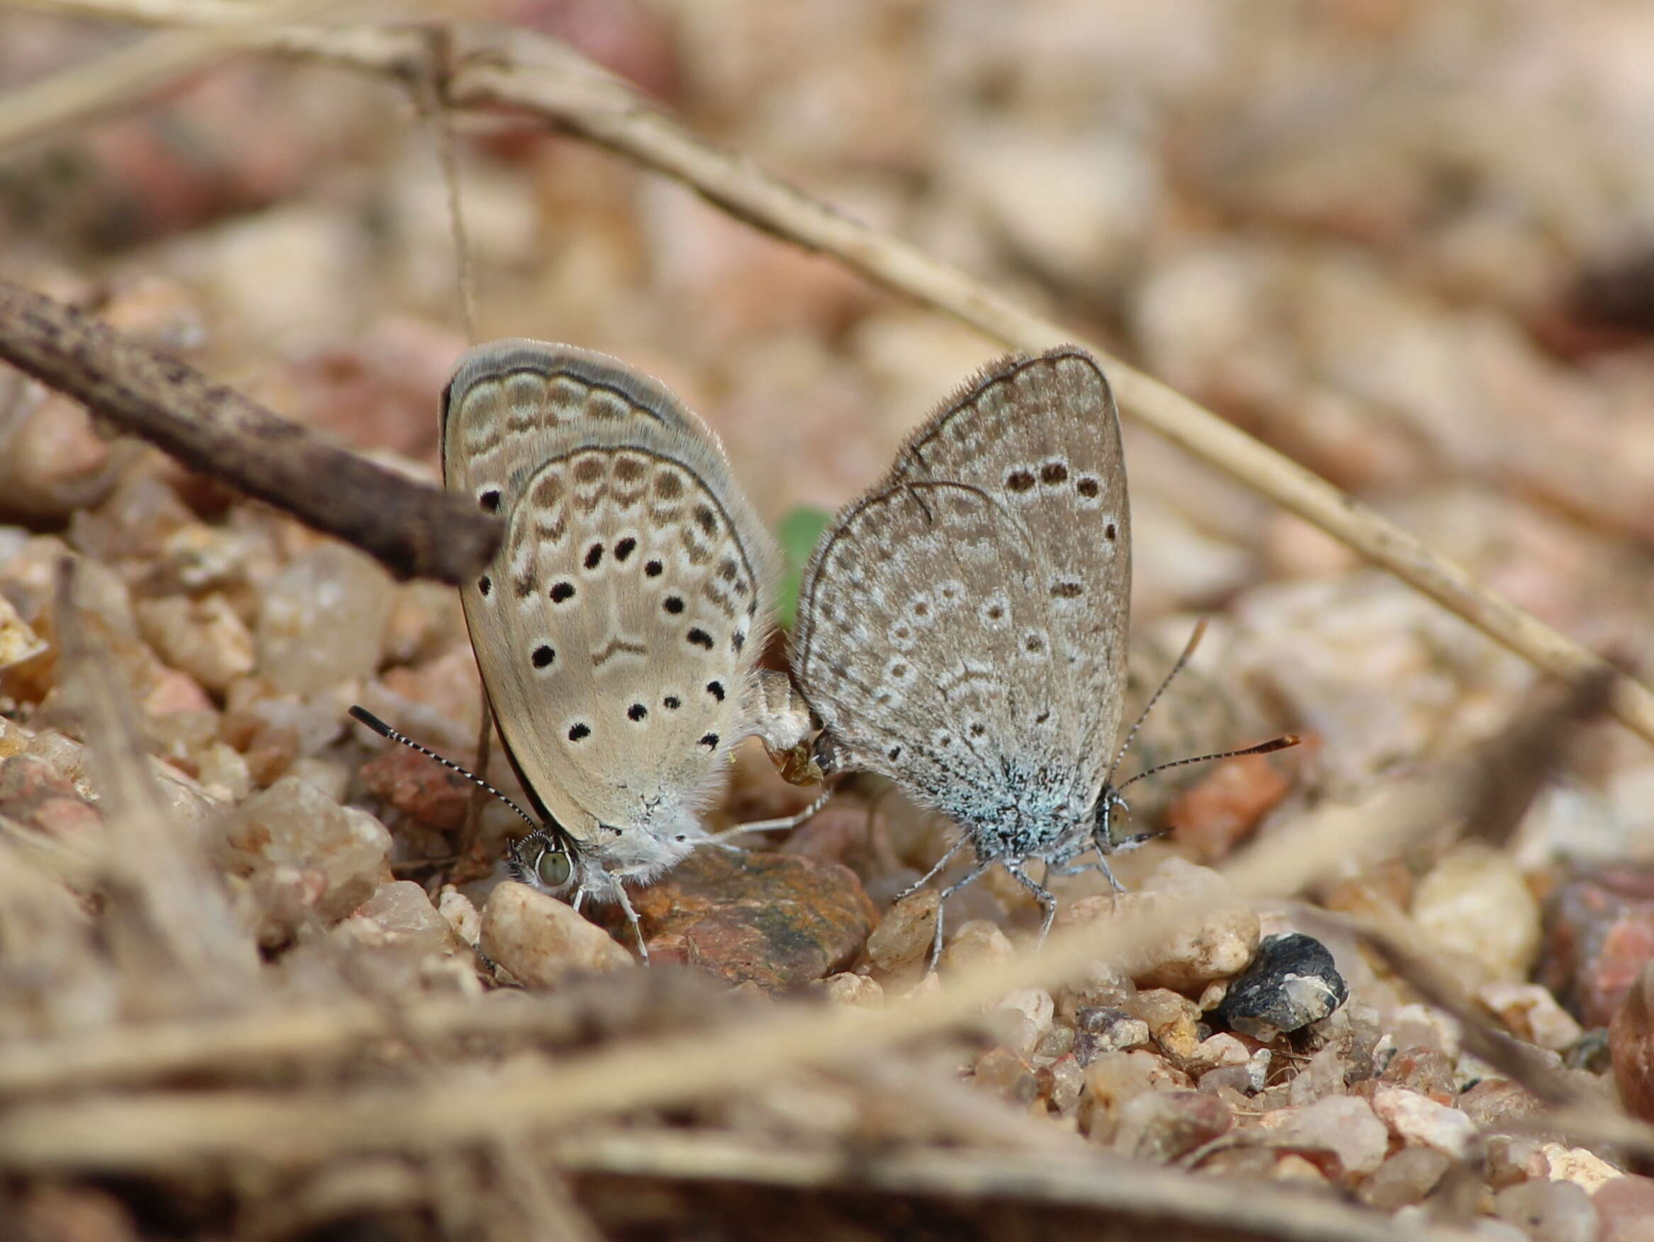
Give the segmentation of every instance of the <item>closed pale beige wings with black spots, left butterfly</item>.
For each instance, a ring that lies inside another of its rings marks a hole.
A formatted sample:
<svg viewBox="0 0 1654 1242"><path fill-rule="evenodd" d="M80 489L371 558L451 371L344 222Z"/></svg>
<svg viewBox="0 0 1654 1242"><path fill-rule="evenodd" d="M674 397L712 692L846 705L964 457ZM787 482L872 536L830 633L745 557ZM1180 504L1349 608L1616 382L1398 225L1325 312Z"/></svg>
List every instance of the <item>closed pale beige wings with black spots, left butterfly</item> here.
<svg viewBox="0 0 1654 1242"><path fill-rule="evenodd" d="M691 822L743 736L769 539L711 432L584 351L473 352L443 445L450 486L498 490L506 518L461 599L513 761L571 832L647 862L638 840Z"/></svg>

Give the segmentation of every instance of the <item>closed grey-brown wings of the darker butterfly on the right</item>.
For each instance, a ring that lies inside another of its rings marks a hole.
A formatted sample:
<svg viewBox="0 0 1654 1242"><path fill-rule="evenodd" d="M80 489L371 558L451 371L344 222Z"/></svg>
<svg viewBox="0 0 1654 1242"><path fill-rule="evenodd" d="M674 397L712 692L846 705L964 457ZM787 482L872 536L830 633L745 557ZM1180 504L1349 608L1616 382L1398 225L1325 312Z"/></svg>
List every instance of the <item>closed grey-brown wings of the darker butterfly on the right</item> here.
<svg viewBox="0 0 1654 1242"><path fill-rule="evenodd" d="M1030 782L1088 800L1120 728L1130 594L1108 384L1078 349L1012 357L824 533L794 671L858 766L954 819Z"/></svg>

